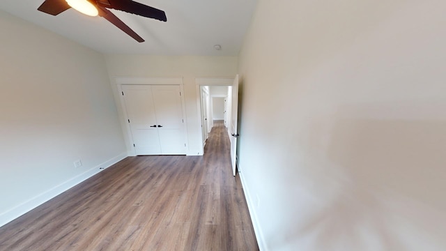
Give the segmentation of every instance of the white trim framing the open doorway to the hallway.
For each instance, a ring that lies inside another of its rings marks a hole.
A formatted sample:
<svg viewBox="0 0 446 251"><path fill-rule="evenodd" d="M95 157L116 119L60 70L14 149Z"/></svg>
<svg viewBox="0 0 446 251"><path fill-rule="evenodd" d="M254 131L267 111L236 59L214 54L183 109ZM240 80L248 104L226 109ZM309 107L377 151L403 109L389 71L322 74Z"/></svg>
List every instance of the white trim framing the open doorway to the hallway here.
<svg viewBox="0 0 446 251"><path fill-rule="evenodd" d="M199 114L198 117L198 126L201 128L200 133L200 142L203 142L203 120L202 120L202 103L201 103L201 87L202 86L232 86L234 82L233 77L196 77L195 78L195 88L197 90L197 112ZM201 153L204 153L204 145L201 144Z"/></svg>

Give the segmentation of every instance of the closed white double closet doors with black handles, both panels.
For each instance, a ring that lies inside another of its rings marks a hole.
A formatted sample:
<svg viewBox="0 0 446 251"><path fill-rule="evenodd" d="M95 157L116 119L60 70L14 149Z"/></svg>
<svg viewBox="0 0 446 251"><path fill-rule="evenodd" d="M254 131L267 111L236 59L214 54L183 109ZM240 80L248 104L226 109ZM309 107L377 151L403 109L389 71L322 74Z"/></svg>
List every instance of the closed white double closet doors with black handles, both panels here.
<svg viewBox="0 0 446 251"><path fill-rule="evenodd" d="M136 155L183 155L186 137L178 85L123 85Z"/></svg>

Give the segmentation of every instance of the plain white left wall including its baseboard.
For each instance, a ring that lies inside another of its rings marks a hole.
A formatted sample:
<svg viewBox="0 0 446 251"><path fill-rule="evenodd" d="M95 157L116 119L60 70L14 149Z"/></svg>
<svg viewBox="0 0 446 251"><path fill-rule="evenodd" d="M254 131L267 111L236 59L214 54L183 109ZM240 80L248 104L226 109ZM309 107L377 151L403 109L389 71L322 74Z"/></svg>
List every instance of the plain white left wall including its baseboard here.
<svg viewBox="0 0 446 251"><path fill-rule="evenodd" d="M121 160L125 146L101 54L3 11L0 30L1 226Z"/></svg>

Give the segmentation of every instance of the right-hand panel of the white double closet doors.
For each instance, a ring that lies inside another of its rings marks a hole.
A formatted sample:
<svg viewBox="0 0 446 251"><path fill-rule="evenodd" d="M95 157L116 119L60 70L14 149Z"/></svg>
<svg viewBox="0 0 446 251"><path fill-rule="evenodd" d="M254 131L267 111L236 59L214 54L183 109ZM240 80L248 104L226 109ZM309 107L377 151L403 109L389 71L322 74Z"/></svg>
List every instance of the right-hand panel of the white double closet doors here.
<svg viewBox="0 0 446 251"><path fill-rule="evenodd" d="M186 140L180 86L152 86L152 93L162 154L185 154Z"/></svg>

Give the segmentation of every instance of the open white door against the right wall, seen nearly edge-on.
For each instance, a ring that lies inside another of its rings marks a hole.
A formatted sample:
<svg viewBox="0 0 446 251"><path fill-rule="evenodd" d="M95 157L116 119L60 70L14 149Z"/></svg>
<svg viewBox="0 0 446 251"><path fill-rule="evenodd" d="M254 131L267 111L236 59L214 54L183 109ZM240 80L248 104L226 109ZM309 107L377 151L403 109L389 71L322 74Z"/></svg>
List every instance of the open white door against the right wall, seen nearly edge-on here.
<svg viewBox="0 0 446 251"><path fill-rule="evenodd" d="M236 176L236 158L237 158L237 123L238 123L238 75L232 84L232 99L231 99L231 124L229 125L230 139L231 139L231 163L233 176Z"/></svg>

